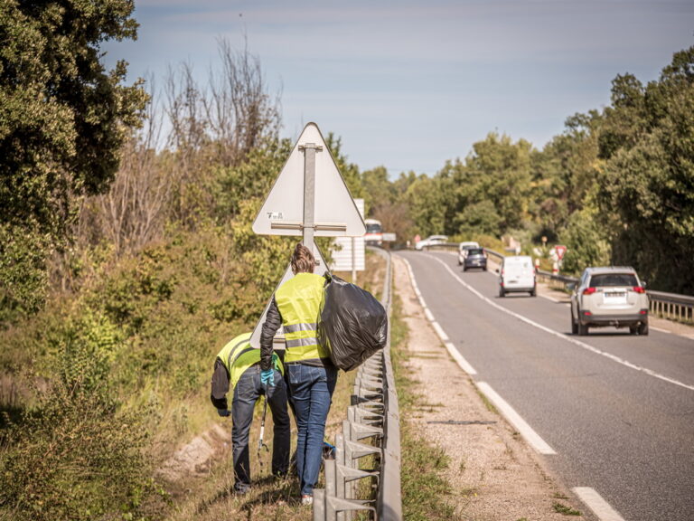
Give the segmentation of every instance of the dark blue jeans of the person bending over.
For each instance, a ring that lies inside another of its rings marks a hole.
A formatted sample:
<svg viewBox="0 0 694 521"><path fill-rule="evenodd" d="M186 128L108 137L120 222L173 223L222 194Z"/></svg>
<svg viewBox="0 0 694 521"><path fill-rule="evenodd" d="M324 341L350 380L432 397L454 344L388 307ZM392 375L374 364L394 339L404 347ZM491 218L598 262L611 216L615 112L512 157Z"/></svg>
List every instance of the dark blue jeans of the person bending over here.
<svg viewBox="0 0 694 521"><path fill-rule="evenodd" d="M250 487L249 432L253 410L265 386L260 383L260 365L250 366L234 387L231 402L231 447L234 457L234 490L245 492ZM286 384L275 370L275 385L267 388L267 405L275 425L272 442L272 473L286 475L289 468L290 423L286 412Z"/></svg>

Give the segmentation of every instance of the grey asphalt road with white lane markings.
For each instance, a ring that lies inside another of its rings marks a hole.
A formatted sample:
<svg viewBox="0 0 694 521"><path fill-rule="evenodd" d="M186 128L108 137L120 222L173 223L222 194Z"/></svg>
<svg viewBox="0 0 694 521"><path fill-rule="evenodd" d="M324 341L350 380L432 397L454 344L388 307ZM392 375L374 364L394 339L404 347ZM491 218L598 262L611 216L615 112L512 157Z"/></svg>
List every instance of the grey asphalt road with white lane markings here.
<svg viewBox="0 0 694 521"><path fill-rule="evenodd" d="M603 328L571 335L567 304L498 297L494 273L446 252L398 252L450 342L556 455L627 521L694 519L694 340Z"/></svg>

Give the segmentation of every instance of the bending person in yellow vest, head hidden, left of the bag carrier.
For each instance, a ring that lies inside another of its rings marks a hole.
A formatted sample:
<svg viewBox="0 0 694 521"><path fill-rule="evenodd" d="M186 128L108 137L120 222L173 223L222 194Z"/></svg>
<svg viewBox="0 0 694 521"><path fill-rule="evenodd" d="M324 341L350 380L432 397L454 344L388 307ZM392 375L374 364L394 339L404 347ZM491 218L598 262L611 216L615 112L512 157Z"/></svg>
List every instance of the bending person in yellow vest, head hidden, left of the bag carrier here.
<svg viewBox="0 0 694 521"><path fill-rule="evenodd" d="M285 477L289 468L290 423L286 409L284 366L273 353L267 374L260 378L260 350L250 346L250 333L239 335L224 346L214 361L211 402L220 416L231 416L231 450L234 460L234 491L245 494L250 488L249 431L253 410L265 394L272 411L274 436L272 473ZM227 393L231 391L231 411Z"/></svg>

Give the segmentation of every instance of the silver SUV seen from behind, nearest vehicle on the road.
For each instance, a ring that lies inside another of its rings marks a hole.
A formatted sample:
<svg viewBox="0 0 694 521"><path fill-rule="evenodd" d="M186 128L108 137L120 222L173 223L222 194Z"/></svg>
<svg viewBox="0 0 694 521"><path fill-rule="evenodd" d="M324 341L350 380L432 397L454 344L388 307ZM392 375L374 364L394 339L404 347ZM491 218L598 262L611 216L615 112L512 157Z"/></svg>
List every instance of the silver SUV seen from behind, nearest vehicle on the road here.
<svg viewBox="0 0 694 521"><path fill-rule="evenodd" d="M586 268L571 293L571 332L587 335L590 327L629 327L648 335L645 284L629 266Z"/></svg>

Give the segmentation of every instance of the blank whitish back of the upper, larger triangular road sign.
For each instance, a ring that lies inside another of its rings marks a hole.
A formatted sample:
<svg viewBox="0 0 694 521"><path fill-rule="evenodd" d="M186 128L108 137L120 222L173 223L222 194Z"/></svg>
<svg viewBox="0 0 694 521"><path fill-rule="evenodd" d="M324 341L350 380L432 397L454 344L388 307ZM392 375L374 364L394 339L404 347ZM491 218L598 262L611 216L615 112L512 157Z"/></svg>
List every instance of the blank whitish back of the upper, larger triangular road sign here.
<svg viewBox="0 0 694 521"><path fill-rule="evenodd" d="M315 150L315 237L361 237L366 226L315 123L305 126L253 222L260 235L303 235L306 145Z"/></svg>

